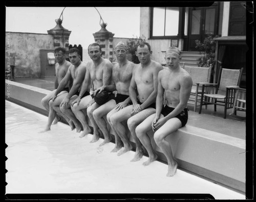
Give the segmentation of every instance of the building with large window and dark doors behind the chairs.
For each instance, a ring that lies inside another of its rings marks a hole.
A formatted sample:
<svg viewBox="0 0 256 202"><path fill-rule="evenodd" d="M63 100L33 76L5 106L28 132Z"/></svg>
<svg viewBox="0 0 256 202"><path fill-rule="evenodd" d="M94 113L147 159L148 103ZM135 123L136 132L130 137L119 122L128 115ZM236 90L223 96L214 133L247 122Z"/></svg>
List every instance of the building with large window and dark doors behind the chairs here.
<svg viewBox="0 0 256 202"><path fill-rule="evenodd" d="M202 5L204 6L204 5ZM196 40L216 40L214 79L220 65L246 71L246 2L214 2L205 7L141 7L140 36L152 46L152 59L164 64L169 46L183 54L197 52ZM188 63L189 64L189 63Z"/></svg>

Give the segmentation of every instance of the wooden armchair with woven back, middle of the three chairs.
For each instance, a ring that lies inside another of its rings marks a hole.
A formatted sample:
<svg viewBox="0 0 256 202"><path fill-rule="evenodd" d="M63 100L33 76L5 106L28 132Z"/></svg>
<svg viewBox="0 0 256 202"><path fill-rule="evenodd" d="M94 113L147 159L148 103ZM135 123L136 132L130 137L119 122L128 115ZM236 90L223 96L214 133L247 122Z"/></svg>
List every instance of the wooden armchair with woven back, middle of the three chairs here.
<svg viewBox="0 0 256 202"><path fill-rule="evenodd" d="M202 95L199 114L202 106L214 104L224 106L224 119L226 119L227 109L233 108L236 89L241 82L243 68L241 70L230 70L220 68L218 82L202 84Z"/></svg>

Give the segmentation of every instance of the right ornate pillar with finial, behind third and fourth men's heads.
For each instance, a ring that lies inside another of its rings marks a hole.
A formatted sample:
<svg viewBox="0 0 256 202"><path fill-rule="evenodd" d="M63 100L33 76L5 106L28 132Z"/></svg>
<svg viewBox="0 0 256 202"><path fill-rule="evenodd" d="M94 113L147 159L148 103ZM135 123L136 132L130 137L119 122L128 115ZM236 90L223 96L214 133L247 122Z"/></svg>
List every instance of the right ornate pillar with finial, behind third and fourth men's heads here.
<svg viewBox="0 0 256 202"><path fill-rule="evenodd" d="M106 30L106 23L100 24L100 31L93 34L96 43L99 43L102 57L112 61L113 59L113 34Z"/></svg>

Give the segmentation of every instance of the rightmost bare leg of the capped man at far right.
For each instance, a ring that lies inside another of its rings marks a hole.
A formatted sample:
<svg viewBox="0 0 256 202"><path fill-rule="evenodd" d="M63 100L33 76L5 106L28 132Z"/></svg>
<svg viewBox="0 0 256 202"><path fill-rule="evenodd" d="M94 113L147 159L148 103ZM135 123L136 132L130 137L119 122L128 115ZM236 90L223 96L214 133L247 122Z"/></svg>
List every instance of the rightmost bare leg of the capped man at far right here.
<svg viewBox="0 0 256 202"><path fill-rule="evenodd" d="M178 163L174 160L172 148L170 144L165 140L168 134L176 131L178 128L181 127L181 122L177 118L169 119L162 127L160 127L154 134L154 139L156 141L157 146L162 150L164 155L167 158L168 162L168 172L166 176L174 176Z"/></svg>

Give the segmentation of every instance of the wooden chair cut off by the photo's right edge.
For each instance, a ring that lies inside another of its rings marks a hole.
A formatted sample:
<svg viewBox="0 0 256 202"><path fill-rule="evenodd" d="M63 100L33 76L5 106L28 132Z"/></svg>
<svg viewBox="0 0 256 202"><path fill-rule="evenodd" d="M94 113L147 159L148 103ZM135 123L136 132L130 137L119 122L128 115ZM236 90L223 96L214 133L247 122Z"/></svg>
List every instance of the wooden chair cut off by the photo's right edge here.
<svg viewBox="0 0 256 202"><path fill-rule="evenodd" d="M246 111L246 89L245 88L237 88L236 97L234 98L234 104L232 113L229 114L232 117L238 119L245 119L246 117L241 117L237 115L237 111Z"/></svg>

